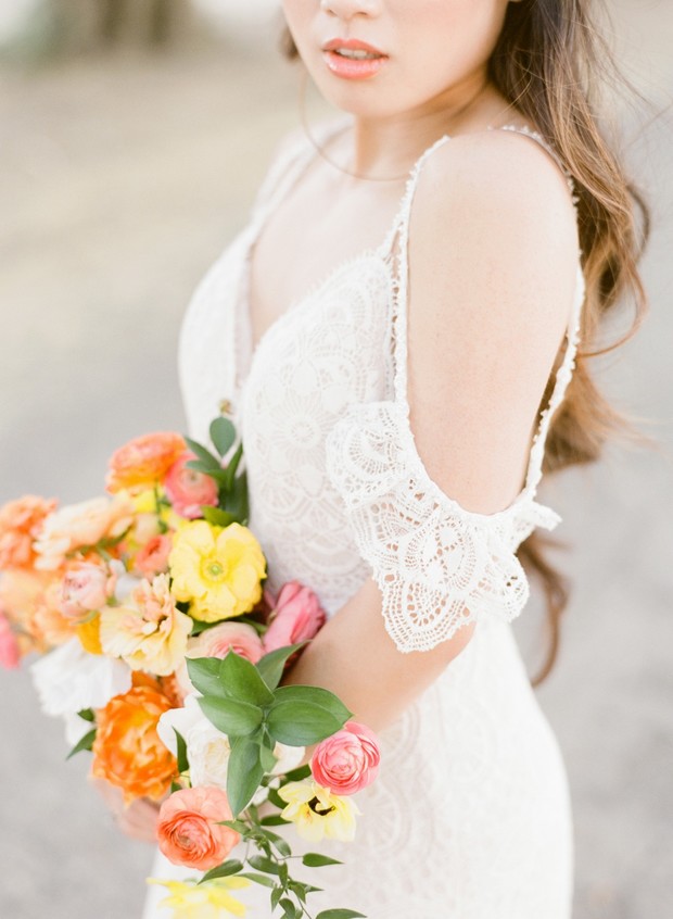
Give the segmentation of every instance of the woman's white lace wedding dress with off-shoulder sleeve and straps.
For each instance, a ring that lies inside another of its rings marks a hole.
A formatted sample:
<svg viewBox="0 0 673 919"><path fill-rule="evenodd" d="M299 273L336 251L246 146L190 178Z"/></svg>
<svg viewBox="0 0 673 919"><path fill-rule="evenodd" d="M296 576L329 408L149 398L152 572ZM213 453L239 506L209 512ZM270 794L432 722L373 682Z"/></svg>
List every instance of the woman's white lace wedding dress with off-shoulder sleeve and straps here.
<svg viewBox="0 0 673 919"><path fill-rule="evenodd" d="M322 125L319 139L341 127ZM297 140L193 295L181 330L181 388L195 438L207 439L223 400L233 406L251 527L271 589L297 578L333 614L373 574L386 628L405 652L448 638L466 607L478 620L467 649L381 734L380 777L357 796L356 841L309 847L346 863L314 872L326 893L312 895L312 915L343 906L369 919L569 919L567 775L509 622L529 595L516 550L535 527L560 520L535 494L550 417L574 366L584 281L577 260L563 360L523 490L495 514L464 509L426 471L406 401L409 214L423 162L448 140L415 164L381 246L335 267L253 354L249 256L266 217L316 155ZM185 873L161 857L155 870ZM153 889L145 919L168 915L156 907L160 897ZM270 916L265 889L240 898L250 916Z"/></svg>

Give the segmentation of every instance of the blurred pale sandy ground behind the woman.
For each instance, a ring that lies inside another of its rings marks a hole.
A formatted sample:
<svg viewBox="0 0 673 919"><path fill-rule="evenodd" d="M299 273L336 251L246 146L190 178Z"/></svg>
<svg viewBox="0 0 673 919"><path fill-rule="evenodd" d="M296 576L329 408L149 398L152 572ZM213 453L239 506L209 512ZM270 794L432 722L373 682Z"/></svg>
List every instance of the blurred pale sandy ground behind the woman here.
<svg viewBox="0 0 673 919"><path fill-rule="evenodd" d="M229 3L231 5L231 3ZM651 314L601 362L663 454L611 451L545 482L574 580L562 655L541 702L571 777L575 919L673 915L673 89L669 0L617 4L618 43L655 109L619 115L648 186ZM297 123L271 20L245 41L0 70L0 501L100 492L106 457L150 429L183 430L176 345L187 301L246 218L272 144ZM535 664L541 603L517 633ZM0 915L134 919L150 849L117 835L63 761L61 725L26 673L0 675ZM496 919L496 917L494 917ZM505 919L503 917L501 919ZM507 917L507 919L515 919ZM544 919L544 917L541 917Z"/></svg>

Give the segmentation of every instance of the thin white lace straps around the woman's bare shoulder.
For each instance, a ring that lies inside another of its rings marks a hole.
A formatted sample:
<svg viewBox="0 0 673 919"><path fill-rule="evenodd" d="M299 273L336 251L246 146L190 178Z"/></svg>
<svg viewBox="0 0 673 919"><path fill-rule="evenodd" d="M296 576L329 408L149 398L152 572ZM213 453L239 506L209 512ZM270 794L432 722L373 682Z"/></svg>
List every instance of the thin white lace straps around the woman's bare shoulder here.
<svg viewBox="0 0 673 919"><path fill-rule="evenodd" d="M544 138L536 134L535 131L530 130L530 128L518 128L513 125L507 125L505 128L500 128L503 130L511 130L517 131L519 134L523 134L525 137L531 138L532 140L539 143L549 155L557 162L559 168L563 172L566 179L568 181L568 186L571 191L573 206L575 207L576 213L576 194L574 182L572 179L571 174L564 167L560 156L556 153L556 151L544 140ZM422 169L422 166L426 160L443 143L446 143L450 140L448 135L443 135L439 138L431 147L429 147L423 153L419 156L416 161L411 172L409 173L409 177L407 179L406 190L404 192L404 197L402 199L399 210L391 230L389 232L388 239L385 240L384 248L393 247L394 240L396 235L398 234L398 270L397 270L397 282L394 286L393 290L393 311L392 311L392 319L394 324L394 347L393 347L393 361L394 361L394 391L395 391L395 401L398 405L402 406L404 412L408 415L409 414L409 404L407 399L407 391L408 391L408 317L407 317L407 303L408 303L408 277L409 277L409 267L408 267L408 237L409 237L409 218L411 213L411 203L414 201L414 194L416 192L416 188L418 185L419 176ZM568 383L572 377L572 372L575 365L575 355L577 349L577 342L580 340L580 326L581 326L581 312L582 305L584 303L585 297L585 280L584 274L582 272L582 263L581 263L581 251L577 253L577 270L576 270L576 280L575 280L575 297L573 300L573 304L570 311L570 316L568 320L568 326L566 330L566 338L567 338L567 347L566 353L563 355L561 365L558 368L556 380L554 385L554 389L551 392L551 396L549 398L549 402L546 408L539 415L539 423L537 431L533 438L533 443L531 446L531 452L529 456L529 464L526 469L526 477L525 477L525 484L524 491L530 492L532 495L535 494L537 484L542 479L542 465L544 460L544 450L545 450L545 442L547 438L547 432L549 429L549 425L551 421L551 416L556 408L560 405L563 400L563 395L566 393L566 389L568 388Z"/></svg>

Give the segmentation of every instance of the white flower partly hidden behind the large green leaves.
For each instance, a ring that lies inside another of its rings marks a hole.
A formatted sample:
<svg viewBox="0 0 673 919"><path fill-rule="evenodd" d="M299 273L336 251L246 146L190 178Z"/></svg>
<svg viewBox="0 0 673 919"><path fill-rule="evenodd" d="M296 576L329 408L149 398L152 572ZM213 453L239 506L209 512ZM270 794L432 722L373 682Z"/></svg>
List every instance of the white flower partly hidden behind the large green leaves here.
<svg viewBox="0 0 673 919"><path fill-rule="evenodd" d="M177 756L178 745L175 730L185 739L189 761L190 781L196 785L216 785L226 791L227 769L231 746L229 738L208 721L199 705L200 693L190 693L183 708L172 708L158 719L157 733L162 743ZM285 746L277 743L274 754L278 757L271 775L278 776L294 769L304 756L304 747ZM253 804L261 804L267 795L266 789L259 789L253 797Z"/></svg>

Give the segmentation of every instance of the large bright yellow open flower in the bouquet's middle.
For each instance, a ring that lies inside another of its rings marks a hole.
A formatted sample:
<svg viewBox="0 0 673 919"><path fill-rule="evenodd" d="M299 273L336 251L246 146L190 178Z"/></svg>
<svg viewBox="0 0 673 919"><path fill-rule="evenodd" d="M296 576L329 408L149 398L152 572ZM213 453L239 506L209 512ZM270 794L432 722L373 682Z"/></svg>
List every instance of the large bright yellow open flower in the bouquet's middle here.
<svg viewBox="0 0 673 919"><path fill-rule="evenodd" d="M190 614L217 622L250 612L262 597L266 559L246 527L216 527L207 520L186 524L168 556L173 595L191 603Z"/></svg>

